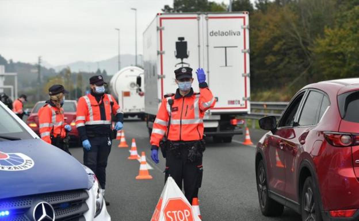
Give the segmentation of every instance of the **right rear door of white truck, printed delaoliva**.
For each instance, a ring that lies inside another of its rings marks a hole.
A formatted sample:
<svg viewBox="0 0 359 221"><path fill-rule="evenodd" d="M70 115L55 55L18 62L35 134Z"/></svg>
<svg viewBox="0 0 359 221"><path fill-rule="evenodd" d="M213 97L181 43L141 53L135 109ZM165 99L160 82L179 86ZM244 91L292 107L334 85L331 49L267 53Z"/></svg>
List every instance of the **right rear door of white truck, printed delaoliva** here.
<svg viewBox="0 0 359 221"><path fill-rule="evenodd" d="M204 63L215 112L250 110L248 14L204 15ZM207 58L207 59L206 59Z"/></svg>

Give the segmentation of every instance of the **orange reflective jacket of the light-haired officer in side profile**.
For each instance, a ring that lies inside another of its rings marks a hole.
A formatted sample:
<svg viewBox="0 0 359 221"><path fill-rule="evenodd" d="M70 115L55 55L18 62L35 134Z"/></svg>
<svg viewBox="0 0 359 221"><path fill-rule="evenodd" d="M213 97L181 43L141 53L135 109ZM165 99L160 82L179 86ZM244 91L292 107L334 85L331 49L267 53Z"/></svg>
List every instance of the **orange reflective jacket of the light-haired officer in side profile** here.
<svg viewBox="0 0 359 221"><path fill-rule="evenodd" d="M39 116L39 132L41 139L51 144L50 136L56 137L60 135L61 138L65 138L65 115L64 109L57 108L50 104L46 104L40 108L38 112Z"/></svg>

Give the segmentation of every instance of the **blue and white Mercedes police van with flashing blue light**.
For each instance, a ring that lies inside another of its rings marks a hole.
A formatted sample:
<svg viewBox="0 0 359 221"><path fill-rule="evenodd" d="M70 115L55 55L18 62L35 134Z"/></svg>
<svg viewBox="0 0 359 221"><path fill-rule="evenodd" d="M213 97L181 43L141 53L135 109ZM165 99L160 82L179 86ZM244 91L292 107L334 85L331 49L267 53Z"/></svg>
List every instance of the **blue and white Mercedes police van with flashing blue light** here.
<svg viewBox="0 0 359 221"><path fill-rule="evenodd" d="M0 221L111 221L92 172L0 102Z"/></svg>

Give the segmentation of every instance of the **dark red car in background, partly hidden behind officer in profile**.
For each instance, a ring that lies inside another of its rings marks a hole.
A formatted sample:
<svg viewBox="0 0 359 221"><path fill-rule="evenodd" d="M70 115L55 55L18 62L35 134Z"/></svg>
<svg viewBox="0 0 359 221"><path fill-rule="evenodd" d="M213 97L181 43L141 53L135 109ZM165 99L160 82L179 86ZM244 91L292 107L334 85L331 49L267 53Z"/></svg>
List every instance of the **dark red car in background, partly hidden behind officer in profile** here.
<svg viewBox="0 0 359 221"><path fill-rule="evenodd" d="M45 105L45 101L39 101L35 104L33 109L30 112L29 117L27 118L27 125L39 135L39 117L37 115L39 109ZM76 109L77 101L74 100L65 100L64 105L62 105L65 113L65 122L69 124L72 128L70 131L70 142L78 144L79 142L79 133L76 129Z"/></svg>

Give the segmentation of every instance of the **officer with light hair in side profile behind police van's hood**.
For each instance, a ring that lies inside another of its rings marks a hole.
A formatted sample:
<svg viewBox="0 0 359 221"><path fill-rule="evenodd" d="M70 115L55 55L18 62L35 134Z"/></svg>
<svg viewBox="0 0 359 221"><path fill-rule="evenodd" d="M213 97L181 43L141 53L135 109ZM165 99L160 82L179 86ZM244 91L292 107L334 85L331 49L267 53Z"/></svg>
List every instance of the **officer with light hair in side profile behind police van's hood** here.
<svg viewBox="0 0 359 221"><path fill-rule="evenodd" d="M52 85L48 89L50 99L38 112L39 132L41 139L70 154L67 132L71 131L71 126L65 123L64 109L62 109L65 93L69 92L62 85Z"/></svg>

